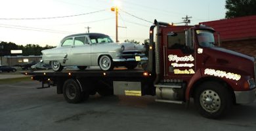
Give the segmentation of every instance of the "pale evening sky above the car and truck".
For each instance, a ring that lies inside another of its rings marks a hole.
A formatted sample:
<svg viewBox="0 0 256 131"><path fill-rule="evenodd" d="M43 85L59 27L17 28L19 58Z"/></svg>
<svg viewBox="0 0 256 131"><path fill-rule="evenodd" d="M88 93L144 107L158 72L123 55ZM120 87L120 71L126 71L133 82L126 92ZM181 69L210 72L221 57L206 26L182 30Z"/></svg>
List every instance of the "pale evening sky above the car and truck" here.
<svg viewBox="0 0 256 131"><path fill-rule="evenodd" d="M225 16L224 0L119 0L119 41L135 39L143 43L149 38L152 24L135 16L154 22L182 22L182 17L192 16L191 25L199 22L219 20ZM17 45L38 44L41 46L59 44L60 39L73 33L105 33L115 41L115 12L110 9L113 0L1 0L0 41ZM106 10L104 10L106 9ZM3 20L3 18L45 18L70 16L104 10L94 14L46 20ZM36 30L36 31L35 31Z"/></svg>

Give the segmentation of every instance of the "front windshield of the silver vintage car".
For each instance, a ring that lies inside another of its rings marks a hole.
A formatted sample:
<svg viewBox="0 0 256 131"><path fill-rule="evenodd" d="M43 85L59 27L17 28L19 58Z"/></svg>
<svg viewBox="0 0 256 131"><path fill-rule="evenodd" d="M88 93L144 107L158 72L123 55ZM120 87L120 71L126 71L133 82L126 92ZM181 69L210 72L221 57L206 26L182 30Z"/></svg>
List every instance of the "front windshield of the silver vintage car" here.
<svg viewBox="0 0 256 131"><path fill-rule="evenodd" d="M113 43L108 35L89 35L91 43Z"/></svg>

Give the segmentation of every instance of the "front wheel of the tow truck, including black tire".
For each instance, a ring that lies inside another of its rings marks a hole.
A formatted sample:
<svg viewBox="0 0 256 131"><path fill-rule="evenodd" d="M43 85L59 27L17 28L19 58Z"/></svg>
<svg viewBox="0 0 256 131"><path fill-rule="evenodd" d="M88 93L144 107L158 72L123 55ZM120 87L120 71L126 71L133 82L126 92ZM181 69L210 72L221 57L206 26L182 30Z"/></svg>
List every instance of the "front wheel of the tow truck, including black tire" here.
<svg viewBox="0 0 256 131"><path fill-rule="evenodd" d="M195 94L195 104L203 117L217 119L226 115L232 105L232 97L221 83L205 82Z"/></svg>

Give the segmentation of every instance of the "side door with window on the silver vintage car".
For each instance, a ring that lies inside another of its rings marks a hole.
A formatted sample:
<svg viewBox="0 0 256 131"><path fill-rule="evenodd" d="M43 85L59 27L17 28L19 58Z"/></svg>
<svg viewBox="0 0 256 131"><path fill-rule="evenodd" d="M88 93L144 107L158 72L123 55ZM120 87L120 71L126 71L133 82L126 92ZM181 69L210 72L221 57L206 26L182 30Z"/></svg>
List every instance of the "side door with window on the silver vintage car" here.
<svg viewBox="0 0 256 131"><path fill-rule="evenodd" d="M74 37L74 46L70 50L72 65L91 65L91 45L86 36Z"/></svg>

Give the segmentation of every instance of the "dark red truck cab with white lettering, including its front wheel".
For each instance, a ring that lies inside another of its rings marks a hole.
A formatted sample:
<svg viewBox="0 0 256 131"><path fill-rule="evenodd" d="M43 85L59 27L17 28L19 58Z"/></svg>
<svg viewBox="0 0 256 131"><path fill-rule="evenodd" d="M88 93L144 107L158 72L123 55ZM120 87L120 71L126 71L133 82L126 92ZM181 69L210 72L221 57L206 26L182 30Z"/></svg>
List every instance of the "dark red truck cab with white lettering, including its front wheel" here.
<svg viewBox="0 0 256 131"><path fill-rule="evenodd" d="M203 116L216 118L232 103L255 100L255 58L217 47L214 33L203 25L171 26L155 20L149 62L154 59L156 64L148 64L148 70L156 72L156 101L194 98Z"/></svg>

